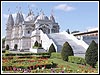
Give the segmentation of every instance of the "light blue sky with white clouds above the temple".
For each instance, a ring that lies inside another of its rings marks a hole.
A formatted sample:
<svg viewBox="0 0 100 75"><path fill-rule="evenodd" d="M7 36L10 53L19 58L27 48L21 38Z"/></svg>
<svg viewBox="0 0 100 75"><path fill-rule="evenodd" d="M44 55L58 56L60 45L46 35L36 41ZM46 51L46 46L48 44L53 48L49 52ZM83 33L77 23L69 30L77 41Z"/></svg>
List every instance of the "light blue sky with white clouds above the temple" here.
<svg viewBox="0 0 100 75"><path fill-rule="evenodd" d="M87 29L98 27L98 2L2 2L2 37L6 35L6 23L8 15L11 13L16 17L16 13L21 11L24 18L27 16L29 9L35 15L40 14L42 10L44 14L50 17L51 13L55 17L55 21L60 26L60 32L69 29L70 32L87 31Z"/></svg>

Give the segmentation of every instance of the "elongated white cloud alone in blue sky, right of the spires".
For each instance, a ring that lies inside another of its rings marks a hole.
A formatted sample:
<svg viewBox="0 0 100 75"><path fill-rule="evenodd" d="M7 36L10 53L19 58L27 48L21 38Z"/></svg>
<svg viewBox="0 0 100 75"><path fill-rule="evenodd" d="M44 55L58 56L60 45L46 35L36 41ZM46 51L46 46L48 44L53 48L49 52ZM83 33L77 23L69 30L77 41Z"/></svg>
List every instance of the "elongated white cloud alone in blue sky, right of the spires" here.
<svg viewBox="0 0 100 75"><path fill-rule="evenodd" d="M67 4L59 4L59 5L55 6L54 9L63 10L63 11L72 11L75 8L72 6L69 6Z"/></svg>

